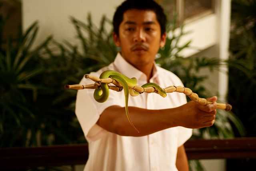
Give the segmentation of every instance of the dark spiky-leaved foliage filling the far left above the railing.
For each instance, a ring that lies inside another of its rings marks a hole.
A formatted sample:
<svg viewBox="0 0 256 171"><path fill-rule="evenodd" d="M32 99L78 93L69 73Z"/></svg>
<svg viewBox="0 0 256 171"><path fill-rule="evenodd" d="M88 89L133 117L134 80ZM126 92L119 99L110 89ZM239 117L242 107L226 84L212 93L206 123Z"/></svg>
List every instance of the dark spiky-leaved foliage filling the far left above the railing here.
<svg viewBox="0 0 256 171"><path fill-rule="evenodd" d="M3 28L5 19L0 19ZM73 58L64 50L47 57L51 36L32 48L37 22L24 34L20 29L16 40L2 39L0 30L0 147L85 142L69 107L76 93L60 87L70 82L68 73L77 72L70 65Z"/></svg>

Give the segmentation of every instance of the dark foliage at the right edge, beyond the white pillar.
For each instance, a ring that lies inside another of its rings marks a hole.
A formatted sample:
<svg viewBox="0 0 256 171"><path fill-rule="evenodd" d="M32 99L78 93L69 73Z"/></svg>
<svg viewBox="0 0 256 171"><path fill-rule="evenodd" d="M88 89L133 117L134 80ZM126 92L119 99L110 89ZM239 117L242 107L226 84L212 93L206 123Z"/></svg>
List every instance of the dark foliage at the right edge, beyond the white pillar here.
<svg viewBox="0 0 256 171"><path fill-rule="evenodd" d="M231 1L230 59L228 101L235 115L244 123L246 137L256 135L256 1ZM240 135L235 132L236 137ZM249 170L255 159L227 161L227 170Z"/></svg>

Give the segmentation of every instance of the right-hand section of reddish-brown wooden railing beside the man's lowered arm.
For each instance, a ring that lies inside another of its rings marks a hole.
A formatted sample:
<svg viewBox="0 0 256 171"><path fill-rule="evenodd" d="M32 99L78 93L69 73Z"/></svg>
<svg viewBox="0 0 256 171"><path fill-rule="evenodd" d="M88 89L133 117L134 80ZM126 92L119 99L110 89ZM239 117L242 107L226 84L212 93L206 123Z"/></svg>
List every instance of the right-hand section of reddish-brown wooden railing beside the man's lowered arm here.
<svg viewBox="0 0 256 171"><path fill-rule="evenodd" d="M188 159L256 158L256 138L198 139L184 146Z"/></svg>

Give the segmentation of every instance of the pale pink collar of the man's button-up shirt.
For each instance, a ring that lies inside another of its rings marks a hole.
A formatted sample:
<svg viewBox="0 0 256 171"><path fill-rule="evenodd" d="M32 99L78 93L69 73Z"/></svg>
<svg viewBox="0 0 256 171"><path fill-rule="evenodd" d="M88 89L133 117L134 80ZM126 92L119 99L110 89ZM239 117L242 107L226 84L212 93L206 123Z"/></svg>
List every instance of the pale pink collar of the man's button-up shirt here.
<svg viewBox="0 0 256 171"><path fill-rule="evenodd" d="M129 64L120 53L116 55L116 59L114 60L114 67L116 70L125 76L132 78L135 77L137 79L146 80L146 74ZM153 66L153 76L151 79L155 79L158 77L158 68L156 63L154 62Z"/></svg>

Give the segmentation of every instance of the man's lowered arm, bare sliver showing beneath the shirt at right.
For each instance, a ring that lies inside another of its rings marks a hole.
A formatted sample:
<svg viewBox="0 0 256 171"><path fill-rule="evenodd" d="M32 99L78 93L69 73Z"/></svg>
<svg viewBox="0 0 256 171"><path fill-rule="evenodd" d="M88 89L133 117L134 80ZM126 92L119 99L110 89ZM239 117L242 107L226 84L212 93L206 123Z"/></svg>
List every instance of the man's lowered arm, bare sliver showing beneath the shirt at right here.
<svg viewBox="0 0 256 171"><path fill-rule="evenodd" d="M178 147L177 158L176 158L176 167L178 171L188 171L188 158L184 145Z"/></svg>

